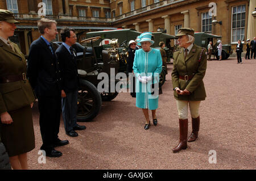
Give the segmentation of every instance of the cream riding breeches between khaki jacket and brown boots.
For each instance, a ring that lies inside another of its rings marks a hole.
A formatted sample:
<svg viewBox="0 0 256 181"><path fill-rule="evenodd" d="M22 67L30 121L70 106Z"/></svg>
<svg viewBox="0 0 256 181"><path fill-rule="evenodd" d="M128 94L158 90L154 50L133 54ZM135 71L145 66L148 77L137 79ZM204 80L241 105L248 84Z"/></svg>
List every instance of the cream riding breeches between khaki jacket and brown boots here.
<svg viewBox="0 0 256 181"><path fill-rule="evenodd" d="M201 101L176 100L179 119L188 119L188 106L191 117L198 117L200 102Z"/></svg>

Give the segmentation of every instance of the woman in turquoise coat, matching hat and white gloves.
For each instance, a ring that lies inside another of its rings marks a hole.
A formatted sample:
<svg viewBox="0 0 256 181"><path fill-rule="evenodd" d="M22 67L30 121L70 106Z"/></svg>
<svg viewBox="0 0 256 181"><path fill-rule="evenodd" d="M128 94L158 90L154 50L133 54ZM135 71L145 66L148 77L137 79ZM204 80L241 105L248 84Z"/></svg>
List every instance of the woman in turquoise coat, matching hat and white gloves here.
<svg viewBox="0 0 256 181"><path fill-rule="evenodd" d="M157 124L155 111L158 108L158 82L162 71L161 53L160 50L150 47L154 43L151 36L152 33L147 32L137 38L137 44L141 45L142 49L135 52L133 63L133 71L137 78L136 106L143 110L146 118L145 129L150 125L148 110L152 110L153 123ZM152 83L155 85L154 93L151 92Z"/></svg>

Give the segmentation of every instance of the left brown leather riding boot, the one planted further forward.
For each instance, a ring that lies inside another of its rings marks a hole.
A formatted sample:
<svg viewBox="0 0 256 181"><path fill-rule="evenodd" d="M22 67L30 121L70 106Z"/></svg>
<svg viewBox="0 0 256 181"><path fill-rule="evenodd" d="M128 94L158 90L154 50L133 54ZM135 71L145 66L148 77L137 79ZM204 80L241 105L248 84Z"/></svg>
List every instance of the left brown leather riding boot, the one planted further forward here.
<svg viewBox="0 0 256 181"><path fill-rule="evenodd" d="M181 149L187 149L187 138L188 138L188 119L179 119L180 123L180 142L172 152L179 152Z"/></svg>

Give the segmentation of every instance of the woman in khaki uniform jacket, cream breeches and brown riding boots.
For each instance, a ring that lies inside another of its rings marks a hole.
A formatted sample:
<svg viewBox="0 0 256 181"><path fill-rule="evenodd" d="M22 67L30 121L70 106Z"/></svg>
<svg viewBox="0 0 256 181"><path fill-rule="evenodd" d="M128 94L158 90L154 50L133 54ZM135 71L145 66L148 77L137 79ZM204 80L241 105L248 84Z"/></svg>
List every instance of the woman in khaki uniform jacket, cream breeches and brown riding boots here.
<svg viewBox="0 0 256 181"><path fill-rule="evenodd" d="M172 85L179 113L180 142L172 151L187 149L187 141L198 137L200 117L199 106L205 100L206 93L203 78L207 69L206 49L193 44L194 30L180 28L178 43L181 50L174 53ZM188 106L192 117L192 133L188 140Z"/></svg>

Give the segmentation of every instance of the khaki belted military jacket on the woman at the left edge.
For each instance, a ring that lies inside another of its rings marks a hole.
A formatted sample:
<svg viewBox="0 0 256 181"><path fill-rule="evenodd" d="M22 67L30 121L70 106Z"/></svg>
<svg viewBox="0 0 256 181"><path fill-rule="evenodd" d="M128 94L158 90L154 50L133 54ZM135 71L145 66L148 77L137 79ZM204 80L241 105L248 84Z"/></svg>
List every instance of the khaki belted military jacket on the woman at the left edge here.
<svg viewBox="0 0 256 181"><path fill-rule="evenodd" d="M15 52L0 40L0 78L27 72L24 55L18 45L11 44L14 45ZM19 110L34 100L35 96L28 80L0 83L0 113Z"/></svg>

